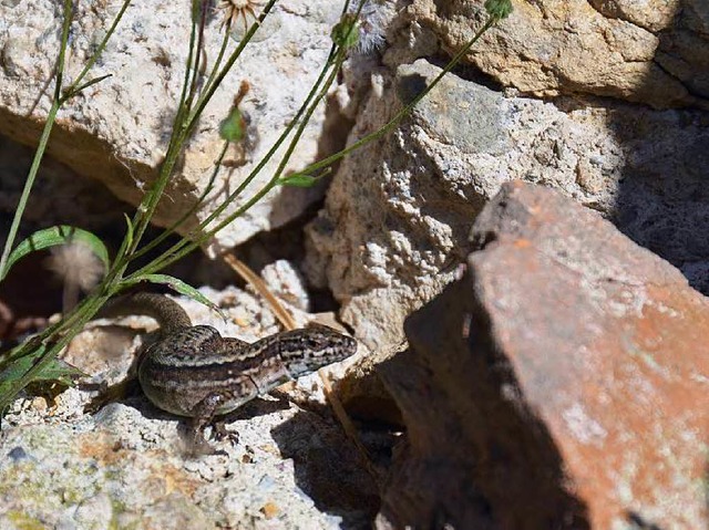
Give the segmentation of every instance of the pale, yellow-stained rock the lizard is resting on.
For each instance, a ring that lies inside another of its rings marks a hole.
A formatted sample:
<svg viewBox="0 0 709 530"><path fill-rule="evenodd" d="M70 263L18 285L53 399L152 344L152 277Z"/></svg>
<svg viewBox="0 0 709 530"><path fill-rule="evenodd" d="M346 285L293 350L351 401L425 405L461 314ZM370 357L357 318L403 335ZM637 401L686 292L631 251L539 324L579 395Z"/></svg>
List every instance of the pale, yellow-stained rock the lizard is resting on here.
<svg viewBox="0 0 709 530"><path fill-rule="evenodd" d="M256 298L203 293L228 322L183 301L196 323L248 341L277 331ZM96 323L65 358L95 382L117 383L137 334ZM42 397L13 404L0 433L0 528L366 528L377 510L374 485L322 406L317 375L291 388L295 403L266 397L229 415L226 428L238 441L212 441L216 455L191 456L184 422L140 394L88 414L94 395L69 389L55 406Z"/></svg>

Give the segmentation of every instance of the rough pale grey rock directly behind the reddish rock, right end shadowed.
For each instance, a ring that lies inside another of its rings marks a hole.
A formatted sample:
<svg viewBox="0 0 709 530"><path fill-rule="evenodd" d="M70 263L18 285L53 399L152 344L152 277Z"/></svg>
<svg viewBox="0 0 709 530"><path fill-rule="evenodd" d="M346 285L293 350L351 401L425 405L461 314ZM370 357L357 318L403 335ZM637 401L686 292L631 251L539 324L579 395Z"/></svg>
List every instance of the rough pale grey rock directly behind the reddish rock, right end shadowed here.
<svg viewBox="0 0 709 530"><path fill-rule="evenodd" d="M440 70L423 60L372 74L362 137ZM361 81L360 81L361 83ZM613 219L709 292L706 115L505 96L456 75L386 139L350 155L309 228L309 274L369 345L453 278L475 214L507 180L559 189Z"/></svg>

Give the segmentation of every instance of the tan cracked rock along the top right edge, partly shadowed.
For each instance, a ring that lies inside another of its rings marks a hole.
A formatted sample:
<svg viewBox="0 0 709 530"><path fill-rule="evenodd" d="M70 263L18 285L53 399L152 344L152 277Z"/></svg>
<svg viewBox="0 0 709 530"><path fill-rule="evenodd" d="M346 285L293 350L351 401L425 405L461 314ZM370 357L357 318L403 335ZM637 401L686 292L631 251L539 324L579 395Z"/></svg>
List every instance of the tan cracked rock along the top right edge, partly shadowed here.
<svg viewBox="0 0 709 530"><path fill-rule="evenodd" d="M455 53L485 20L483 1L417 0L407 17ZM594 94L656 108L709 107L705 0L513 0L467 56L527 94Z"/></svg>

